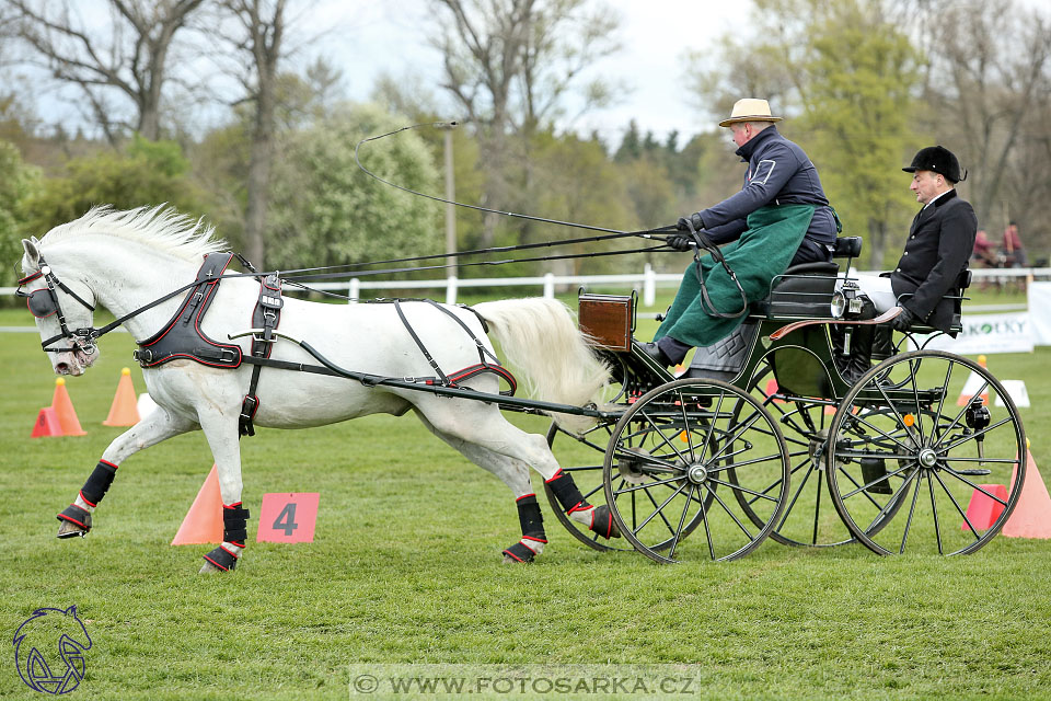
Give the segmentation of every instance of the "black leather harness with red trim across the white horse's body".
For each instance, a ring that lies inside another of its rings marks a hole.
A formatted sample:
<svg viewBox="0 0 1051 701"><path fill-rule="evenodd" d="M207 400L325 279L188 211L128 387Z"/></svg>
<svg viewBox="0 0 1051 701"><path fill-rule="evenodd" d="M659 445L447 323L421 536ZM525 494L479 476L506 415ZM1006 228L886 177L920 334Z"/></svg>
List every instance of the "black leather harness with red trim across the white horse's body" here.
<svg viewBox="0 0 1051 701"><path fill-rule="evenodd" d="M205 256L205 262L197 272L197 278L189 287L186 298L178 311L161 329L146 341L137 342L139 349L132 356L143 368L152 368L171 360L186 359L216 368L234 369L241 367L242 363L254 366L252 368L252 378L249 381L249 391L241 405L241 415L238 418L238 429L242 436L254 436L255 427L252 424L256 412L259 409L259 399L256 389L259 382L259 374L263 366L275 367L286 370L299 370L314 372L320 375L331 375L335 377L348 377L346 372L337 372L334 369L324 366L303 365L299 363L288 363L284 360L270 359L270 353L274 343L277 341L274 332L280 323L281 308L284 300L281 298L281 280L270 274L259 280L259 297L255 309L252 312L252 329L262 330L262 333L252 335L252 350L250 355L244 355L241 347L234 344L219 343L209 338L201 330L200 323L205 312L211 306L215 299L216 289L222 280L222 274L230 265L233 253L210 253ZM446 387L460 389L459 383L476 375L489 372L505 380L510 387L509 390L501 391L504 397L513 397L518 389L518 382L506 368L499 365L497 357L478 340L470 327L454 313L432 300L418 300L430 303L435 309L443 312L450 319L457 322L461 329L474 341L478 350L478 363L467 366L457 372L444 374L434 359L427 347L420 341L419 336L413 330L408 320L402 311L402 300L377 300L378 302L393 302L399 319L405 325L413 341L415 341L420 353L430 364L436 372L436 377L414 377L403 378L405 381L414 384L424 384L430 387ZM417 301L417 300L413 300ZM483 329L488 331L485 320L478 315L477 311L465 304L458 304L462 309L473 312L482 322ZM302 343L300 345L303 345ZM492 361L486 359L492 358ZM354 374L357 375L357 374ZM368 378L368 379L366 379ZM362 375L359 379L367 387L373 387L381 383L386 378Z"/></svg>

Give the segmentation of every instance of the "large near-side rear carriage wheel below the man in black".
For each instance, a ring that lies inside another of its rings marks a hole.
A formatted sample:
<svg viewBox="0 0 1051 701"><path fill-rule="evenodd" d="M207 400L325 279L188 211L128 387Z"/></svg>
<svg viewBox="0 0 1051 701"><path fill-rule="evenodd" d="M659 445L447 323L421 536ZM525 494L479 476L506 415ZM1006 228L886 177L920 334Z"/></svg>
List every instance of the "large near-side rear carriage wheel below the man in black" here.
<svg viewBox="0 0 1051 701"><path fill-rule="evenodd" d="M959 406L968 380L979 399ZM1021 492L1025 432L1014 402L985 368L951 353L914 350L874 367L843 399L830 435L832 501L879 554L974 552Z"/></svg>

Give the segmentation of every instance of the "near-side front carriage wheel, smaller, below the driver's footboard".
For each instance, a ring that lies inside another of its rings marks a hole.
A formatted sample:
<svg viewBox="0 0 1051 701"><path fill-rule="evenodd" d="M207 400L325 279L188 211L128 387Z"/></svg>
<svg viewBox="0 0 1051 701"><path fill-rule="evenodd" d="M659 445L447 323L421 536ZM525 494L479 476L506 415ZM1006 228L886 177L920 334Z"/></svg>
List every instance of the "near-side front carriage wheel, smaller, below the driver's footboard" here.
<svg viewBox="0 0 1051 701"><path fill-rule="evenodd" d="M626 483L625 463L636 475ZM603 482L621 535L646 556L675 562L689 550L734 560L754 550L781 517L788 459L760 402L726 382L684 379L648 392L621 417ZM758 497L751 515L738 493ZM704 538L686 547L693 529Z"/></svg>

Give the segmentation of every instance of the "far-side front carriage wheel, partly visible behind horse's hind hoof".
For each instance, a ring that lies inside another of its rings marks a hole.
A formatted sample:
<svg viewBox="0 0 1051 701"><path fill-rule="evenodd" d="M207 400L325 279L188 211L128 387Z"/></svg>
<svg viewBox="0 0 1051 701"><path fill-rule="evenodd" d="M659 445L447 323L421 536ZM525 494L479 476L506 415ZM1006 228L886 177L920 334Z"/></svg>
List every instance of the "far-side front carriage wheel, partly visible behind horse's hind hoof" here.
<svg viewBox="0 0 1051 701"><path fill-rule="evenodd" d="M563 472L573 475L573 481L577 483L580 493L589 504L601 506L605 504L605 492L602 490L602 462L605 455L605 448L610 445L610 436L613 434L613 424L598 424L585 432L582 435L569 433L552 422L547 429L547 445L551 446L558 464ZM632 544L620 538L607 540L598 533L588 530L582 524L570 519L562 510L562 505L555 498L554 493L546 484L544 493L547 495L547 503L555 518L568 530L574 538L582 542L588 548L596 550L633 550Z"/></svg>

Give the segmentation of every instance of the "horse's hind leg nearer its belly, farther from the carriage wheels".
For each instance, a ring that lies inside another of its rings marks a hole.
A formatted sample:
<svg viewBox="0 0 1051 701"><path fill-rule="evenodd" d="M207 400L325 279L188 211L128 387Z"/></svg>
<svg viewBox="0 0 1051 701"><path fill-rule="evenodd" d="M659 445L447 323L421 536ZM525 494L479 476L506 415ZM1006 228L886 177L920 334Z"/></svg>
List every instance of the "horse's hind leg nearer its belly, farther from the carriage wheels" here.
<svg viewBox="0 0 1051 701"><path fill-rule="evenodd" d="M518 520L522 527L522 538L504 550L504 562L532 562L544 551L547 535L544 532L544 517L540 513L540 503L529 481L529 466L478 444L442 433L435 428L421 412L417 411L416 414L432 434L460 451L471 462L495 474L511 489L515 493L515 505L518 508Z"/></svg>

